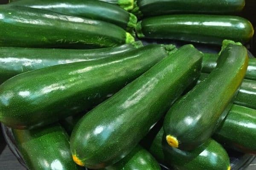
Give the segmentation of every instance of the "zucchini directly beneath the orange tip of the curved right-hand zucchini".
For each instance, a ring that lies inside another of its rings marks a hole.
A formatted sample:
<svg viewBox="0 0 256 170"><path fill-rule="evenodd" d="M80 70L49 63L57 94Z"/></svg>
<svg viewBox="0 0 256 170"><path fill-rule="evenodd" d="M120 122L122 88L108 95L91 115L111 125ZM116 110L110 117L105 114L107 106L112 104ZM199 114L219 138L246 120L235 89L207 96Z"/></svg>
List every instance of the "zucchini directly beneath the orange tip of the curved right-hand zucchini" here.
<svg viewBox="0 0 256 170"><path fill-rule="evenodd" d="M161 128L149 151L160 163L178 170L230 170L226 150L213 139L191 152L183 151L169 147Z"/></svg>

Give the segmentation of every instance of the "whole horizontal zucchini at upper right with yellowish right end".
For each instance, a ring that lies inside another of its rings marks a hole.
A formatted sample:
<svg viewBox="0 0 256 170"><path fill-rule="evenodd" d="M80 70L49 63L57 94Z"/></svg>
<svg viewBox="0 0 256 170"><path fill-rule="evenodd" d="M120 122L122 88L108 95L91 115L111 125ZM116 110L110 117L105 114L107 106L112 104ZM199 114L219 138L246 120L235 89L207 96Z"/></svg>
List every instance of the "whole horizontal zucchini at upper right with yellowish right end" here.
<svg viewBox="0 0 256 170"><path fill-rule="evenodd" d="M172 39L217 45L221 45L225 39L246 43L254 33L252 24L244 18L204 14L150 17L138 22L136 31L140 38Z"/></svg>

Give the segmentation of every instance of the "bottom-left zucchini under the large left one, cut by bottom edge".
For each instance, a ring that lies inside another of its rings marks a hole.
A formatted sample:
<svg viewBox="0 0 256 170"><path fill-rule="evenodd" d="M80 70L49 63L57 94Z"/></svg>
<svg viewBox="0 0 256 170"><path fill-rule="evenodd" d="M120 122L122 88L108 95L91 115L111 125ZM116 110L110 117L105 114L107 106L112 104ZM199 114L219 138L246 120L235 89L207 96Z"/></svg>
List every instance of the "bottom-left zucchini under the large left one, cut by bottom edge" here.
<svg viewBox="0 0 256 170"><path fill-rule="evenodd" d="M29 170L80 170L72 160L69 136L61 125L12 132Z"/></svg>

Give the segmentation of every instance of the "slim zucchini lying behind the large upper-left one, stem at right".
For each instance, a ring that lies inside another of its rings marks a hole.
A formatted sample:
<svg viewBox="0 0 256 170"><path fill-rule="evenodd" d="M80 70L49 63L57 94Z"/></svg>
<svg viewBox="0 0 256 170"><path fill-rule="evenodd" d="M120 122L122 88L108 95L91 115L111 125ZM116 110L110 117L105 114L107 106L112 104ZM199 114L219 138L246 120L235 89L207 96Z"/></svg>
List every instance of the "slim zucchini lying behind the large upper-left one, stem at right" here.
<svg viewBox="0 0 256 170"><path fill-rule="evenodd" d="M15 6L27 6L61 14L90 18L113 23L127 31L133 30L137 23L134 14L119 6L99 0L18 0L10 3Z"/></svg>

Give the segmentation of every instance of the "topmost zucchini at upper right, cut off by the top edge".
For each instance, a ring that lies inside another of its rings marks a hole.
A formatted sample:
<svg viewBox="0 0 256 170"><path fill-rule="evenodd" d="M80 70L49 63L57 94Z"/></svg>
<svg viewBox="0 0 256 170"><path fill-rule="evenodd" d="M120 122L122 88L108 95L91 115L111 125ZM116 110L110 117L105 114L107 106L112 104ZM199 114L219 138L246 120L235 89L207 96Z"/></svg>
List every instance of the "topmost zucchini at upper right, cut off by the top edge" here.
<svg viewBox="0 0 256 170"><path fill-rule="evenodd" d="M136 0L132 12L139 17L174 13L232 14L241 11L244 5L245 0Z"/></svg>

